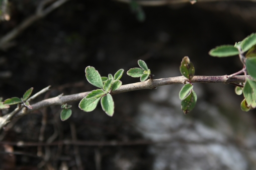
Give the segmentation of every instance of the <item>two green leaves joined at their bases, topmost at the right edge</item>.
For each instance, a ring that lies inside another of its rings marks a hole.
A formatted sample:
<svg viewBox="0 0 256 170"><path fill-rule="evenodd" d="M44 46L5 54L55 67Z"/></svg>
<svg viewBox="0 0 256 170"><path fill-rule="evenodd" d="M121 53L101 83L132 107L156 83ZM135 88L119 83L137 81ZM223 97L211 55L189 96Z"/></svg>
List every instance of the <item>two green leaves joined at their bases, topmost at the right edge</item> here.
<svg viewBox="0 0 256 170"><path fill-rule="evenodd" d="M212 49L209 52L210 56L213 57L230 57L239 55L239 50L241 48L242 52L247 52L249 49L256 45L256 33L251 34L246 37L242 42L233 45L223 45Z"/></svg>

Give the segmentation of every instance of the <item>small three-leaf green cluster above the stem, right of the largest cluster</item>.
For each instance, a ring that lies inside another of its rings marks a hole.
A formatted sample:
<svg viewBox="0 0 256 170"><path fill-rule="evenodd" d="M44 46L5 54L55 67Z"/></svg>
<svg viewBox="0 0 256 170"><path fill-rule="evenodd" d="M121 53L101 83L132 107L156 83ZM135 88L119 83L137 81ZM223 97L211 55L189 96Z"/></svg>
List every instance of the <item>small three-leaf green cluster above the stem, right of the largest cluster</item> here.
<svg viewBox="0 0 256 170"><path fill-rule="evenodd" d="M140 77L141 82L146 81L151 75L151 71L145 61L139 59L138 64L141 68L131 68L127 71L127 75L131 77Z"/></svg>

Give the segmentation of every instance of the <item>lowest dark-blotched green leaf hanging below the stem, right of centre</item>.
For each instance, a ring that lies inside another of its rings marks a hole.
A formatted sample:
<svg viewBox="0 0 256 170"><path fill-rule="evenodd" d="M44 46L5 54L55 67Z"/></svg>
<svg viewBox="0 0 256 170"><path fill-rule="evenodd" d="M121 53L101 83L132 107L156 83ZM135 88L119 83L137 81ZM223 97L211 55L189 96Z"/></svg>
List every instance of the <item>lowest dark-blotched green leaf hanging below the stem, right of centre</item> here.
<svg viewBox="0 0 256 170"><path fill-rule="evenodd" d="M193 110L195 107L197 96L194 90L191 90L188 96L181 101L181 110L186 114Z"/></svg>

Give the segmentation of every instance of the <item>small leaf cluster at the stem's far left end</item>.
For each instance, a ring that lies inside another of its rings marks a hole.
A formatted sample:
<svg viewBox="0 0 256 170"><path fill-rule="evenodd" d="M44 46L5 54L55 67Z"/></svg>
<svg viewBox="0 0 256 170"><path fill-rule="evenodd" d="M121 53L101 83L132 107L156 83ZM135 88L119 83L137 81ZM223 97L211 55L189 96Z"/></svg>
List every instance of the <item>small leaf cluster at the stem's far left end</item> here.
<svg viewBox="0 0 256 170"><path fill-rule="evenodd" d="M3 101L3 105L16 105L16 104L20 104L23 103L23 105L25 107L27 107L28 109L33 109L32 106L30 106L29 102L26 102L26 100L29 98L29 96L31 95L32 91L33 91L33 87L31 87L30 89L28 89L24 95L23 98L17 98L17 97L13 97L10 99L6 99L5 101Z"/></svg>

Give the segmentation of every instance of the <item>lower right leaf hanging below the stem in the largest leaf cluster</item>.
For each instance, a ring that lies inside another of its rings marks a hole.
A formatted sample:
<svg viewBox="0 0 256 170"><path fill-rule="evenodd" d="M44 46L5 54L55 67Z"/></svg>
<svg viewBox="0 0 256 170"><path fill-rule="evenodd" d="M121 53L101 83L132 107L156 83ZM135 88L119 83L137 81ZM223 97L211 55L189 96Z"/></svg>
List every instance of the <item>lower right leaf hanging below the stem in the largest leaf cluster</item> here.
<svg viewBox="0 0 256 170"><path fill-rule="evenodd" d="M112 116L114 114L114 101L112 96L108 93L101 98L101 107L107 115Z"/></svg>

